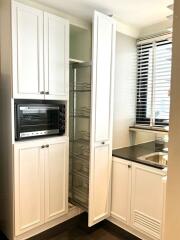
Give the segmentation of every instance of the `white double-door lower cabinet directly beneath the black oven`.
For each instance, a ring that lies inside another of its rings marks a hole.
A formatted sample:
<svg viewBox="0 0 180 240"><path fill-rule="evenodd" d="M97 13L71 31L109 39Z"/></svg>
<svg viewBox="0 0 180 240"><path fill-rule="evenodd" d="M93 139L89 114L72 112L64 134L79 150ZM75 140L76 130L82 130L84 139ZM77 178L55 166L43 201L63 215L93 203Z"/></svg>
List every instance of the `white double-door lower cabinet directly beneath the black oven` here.
<svg viewBox="0 0 180 240"><path fill-rule="evenodd" d="M67 149L62 138L14 145L16 236L67 213Z"/></svg>

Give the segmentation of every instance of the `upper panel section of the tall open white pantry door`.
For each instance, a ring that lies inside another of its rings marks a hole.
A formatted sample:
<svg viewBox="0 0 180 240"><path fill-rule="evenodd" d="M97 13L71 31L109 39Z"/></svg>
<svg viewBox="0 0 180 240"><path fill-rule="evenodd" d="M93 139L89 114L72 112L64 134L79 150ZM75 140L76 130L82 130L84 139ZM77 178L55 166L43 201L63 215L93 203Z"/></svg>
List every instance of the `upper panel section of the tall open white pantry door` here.
<svg viewBox="0 0 180 240"><path fill-rule="evenodd" d="M111 138L116 25L95 12L93 30L93 118L95 142Z"/></svg>

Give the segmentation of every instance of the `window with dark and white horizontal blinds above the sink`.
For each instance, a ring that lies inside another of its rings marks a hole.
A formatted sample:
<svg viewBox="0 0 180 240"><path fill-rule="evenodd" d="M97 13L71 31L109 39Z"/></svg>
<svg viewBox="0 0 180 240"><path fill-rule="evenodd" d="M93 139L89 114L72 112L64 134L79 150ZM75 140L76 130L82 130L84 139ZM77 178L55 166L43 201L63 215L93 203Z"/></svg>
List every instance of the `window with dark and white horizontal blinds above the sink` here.
<svg viewBox="0 0 180 240"><path fill-rule="evenodd" d="M138 41L137 124L169 124L171 57L170 34Z"/></svg>

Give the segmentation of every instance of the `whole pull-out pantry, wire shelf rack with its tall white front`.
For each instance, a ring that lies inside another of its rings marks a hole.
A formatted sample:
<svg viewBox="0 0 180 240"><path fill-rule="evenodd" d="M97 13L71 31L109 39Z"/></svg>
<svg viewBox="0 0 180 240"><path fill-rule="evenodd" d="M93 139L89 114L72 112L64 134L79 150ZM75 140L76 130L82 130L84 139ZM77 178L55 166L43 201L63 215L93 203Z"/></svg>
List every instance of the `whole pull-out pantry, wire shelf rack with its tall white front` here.
<svg viewBox="0 0 180 240"><path fill-rule="evenodd" d="M89 226L110 215L116 28L95 12L92 62L70 63L70 201Z"/></svg>

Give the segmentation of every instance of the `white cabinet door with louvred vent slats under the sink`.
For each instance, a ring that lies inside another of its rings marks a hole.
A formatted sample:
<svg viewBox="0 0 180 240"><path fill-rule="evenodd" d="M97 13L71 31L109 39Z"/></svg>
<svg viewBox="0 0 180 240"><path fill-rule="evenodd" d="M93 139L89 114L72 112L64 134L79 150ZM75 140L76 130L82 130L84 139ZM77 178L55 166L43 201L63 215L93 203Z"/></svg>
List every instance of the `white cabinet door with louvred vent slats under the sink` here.
<svg viewBox="0 0 180 240"><path fill-rule="evenodd" d="M131 224L153 239L162 239L165 173L133 164Z"/></svg>

